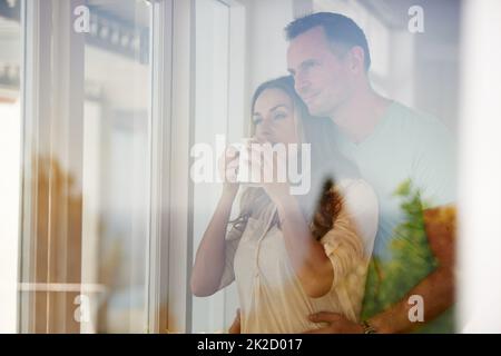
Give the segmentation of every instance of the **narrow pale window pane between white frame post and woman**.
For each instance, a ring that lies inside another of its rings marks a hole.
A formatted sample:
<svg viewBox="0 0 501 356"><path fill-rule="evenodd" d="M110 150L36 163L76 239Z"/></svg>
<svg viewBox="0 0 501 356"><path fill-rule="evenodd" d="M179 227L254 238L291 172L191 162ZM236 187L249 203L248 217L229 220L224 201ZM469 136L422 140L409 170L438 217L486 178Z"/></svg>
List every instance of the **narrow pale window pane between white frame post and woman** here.
<svg viewBox="0 0 501 356"><path fill-rule="evenodd" d="M216 136L226 136L228 120L229 8L216 0L196 1L195 142L212 148L212 181L194 184L194 255L220 194L215 182ZM193 332L223 329L224 291L193 298Z"/></svg>

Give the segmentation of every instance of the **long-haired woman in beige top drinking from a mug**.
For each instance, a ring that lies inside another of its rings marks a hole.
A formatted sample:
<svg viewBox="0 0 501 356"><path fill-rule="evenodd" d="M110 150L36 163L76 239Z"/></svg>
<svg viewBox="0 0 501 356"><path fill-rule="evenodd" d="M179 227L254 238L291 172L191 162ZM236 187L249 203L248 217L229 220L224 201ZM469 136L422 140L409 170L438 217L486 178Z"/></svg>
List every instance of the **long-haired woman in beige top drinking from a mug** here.
<svg viewBox="0 0 501 356"><path fill-rule="evenodd" d="M238 218L229 221L238 184L225 182L198 247L193 293L209 296L235 280L242 333L318 328L307 316L321 310L357 322L377 227L374 192L335 156L330 121L308 116L291 77L259 86L252 111L259 142L312 142L314 189L295 197L288 184L247 187ZM229 151L223 159L229 169L237 166ZM335 186L328 180L333 170Z"/></svg>

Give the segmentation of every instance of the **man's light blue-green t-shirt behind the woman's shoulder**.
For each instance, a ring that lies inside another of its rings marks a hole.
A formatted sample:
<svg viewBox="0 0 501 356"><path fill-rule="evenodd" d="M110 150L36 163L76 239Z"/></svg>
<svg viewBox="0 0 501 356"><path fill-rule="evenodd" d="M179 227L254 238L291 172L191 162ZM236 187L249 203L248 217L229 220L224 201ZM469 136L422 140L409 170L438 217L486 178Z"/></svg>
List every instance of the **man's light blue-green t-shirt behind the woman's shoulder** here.
<svg viewBox="0 0 501 356"><path fill-rule="evenodd" d="M393 229L403 222L397 187L410 179L426 207L455 201L455 154L450 131L438 119L392 102L374 131L355 144L334 126L337 149L372 185L380 204L374 256L391 258Z"/></svg>

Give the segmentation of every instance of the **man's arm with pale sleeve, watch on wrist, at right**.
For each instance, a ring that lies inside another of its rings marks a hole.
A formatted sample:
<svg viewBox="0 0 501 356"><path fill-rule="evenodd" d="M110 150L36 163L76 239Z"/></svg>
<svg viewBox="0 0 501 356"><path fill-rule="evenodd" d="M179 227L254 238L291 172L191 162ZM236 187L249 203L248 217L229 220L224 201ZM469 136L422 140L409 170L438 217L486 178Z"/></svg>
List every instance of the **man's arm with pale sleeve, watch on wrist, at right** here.
<svg viewBox="0 0 501 356"><path fill-rule="evenodd" d="M422 135L421 151L415 152L412 184L421 197L430 201L455 199L455 152L449 130L435 125L433 131ZM419 295L424 303L424 323L442 314L454 301L455 207L440 205L425 209L424 228L438 268L414 286L400 303L374 316L370 323L381 333L404 333L423 323L411 323L409 297Z"/></svg>

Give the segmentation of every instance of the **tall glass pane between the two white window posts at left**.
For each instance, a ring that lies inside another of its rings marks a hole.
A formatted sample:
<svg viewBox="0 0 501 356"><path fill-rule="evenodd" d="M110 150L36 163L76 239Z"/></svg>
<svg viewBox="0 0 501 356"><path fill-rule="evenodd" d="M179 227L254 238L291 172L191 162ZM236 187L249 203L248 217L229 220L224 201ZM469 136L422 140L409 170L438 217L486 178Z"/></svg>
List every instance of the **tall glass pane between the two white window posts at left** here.
<svg viewBox="0 0 501 356"><path fill-rule="evenodd" d="M86 40L82 284L86 330L145 333L149 207L149 6L92 1ZM108 37L104 37L108 28ZM82 325L84 326L84 325Z"/></svg>

